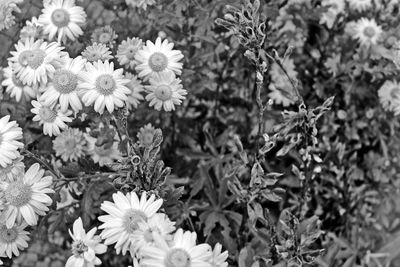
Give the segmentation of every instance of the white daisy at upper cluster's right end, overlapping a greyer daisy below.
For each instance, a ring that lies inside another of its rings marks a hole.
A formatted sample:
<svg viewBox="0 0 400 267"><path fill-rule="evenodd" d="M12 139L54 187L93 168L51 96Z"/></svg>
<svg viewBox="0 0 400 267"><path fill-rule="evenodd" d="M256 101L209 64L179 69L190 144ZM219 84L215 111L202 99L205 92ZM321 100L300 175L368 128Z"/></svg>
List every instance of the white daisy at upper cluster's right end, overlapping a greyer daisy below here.
<svg viewBox="0 0 400 267"><path fill-rule="evenodd" d="M146 45L136 53L135 59L139 63L136 71L139 77L149 77L153 74L173 71L175 74L182 73L182 63L179 61L183 54L179 50L173 50L174 44L168 40L161 42L158 37L155 43L147 41Z"/></svg>

